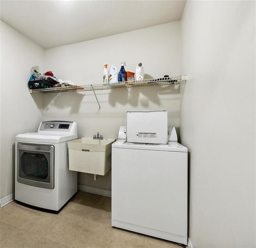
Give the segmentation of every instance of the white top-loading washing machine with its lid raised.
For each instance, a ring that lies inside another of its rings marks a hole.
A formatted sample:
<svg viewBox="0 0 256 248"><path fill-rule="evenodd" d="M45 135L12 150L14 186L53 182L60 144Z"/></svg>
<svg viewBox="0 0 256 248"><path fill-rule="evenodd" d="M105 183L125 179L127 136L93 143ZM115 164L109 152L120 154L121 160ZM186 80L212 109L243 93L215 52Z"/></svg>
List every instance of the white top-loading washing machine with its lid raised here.
<svg viewBox="0 0 256 248"><path fill-rule="evenodd" d="M177 142L174 127L152 127L140 113L132 122L126 116L126 127L112 144L112 226L186 245L188 149ZM154 111L150 115L157 120ZM164 144L148 142L157 137Z"/></svg>

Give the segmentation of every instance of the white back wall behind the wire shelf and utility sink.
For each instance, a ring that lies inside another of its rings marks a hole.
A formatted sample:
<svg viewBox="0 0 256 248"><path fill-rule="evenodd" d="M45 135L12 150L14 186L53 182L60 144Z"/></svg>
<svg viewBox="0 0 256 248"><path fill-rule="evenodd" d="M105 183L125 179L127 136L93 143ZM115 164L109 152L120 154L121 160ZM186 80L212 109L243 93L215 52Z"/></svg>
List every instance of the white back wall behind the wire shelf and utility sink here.
<svg viewBox="0 0 256 248"><path fill-rule="evenodd" d="M139 62L146 77L180 75L180 22L145 28L97 40L46 50L45 68L56 77L78 85L102 83L103 65L126 61L126 70L135 71ZM120 125L126 125L126 110L167 109L169 125L179 127L179 88L147 86L93 92L50 93L44 95L44 119L78 123L78 137L117 138ZM98 177L80 173L78 183L110 189L111 173Z"/></svg>

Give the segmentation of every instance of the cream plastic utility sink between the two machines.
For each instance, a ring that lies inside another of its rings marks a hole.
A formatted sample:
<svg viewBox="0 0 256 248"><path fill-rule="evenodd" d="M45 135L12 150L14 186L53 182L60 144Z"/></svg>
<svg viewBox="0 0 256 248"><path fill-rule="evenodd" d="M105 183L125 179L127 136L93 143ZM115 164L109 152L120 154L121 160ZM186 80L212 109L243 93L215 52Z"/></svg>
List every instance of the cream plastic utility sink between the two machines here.
<svg viewBox="0 0 256 248"><path fill-rule="evenodd" d="M106 175L111 168L111 146L115 141L84 137L68 142L70 171Z"/></svg>

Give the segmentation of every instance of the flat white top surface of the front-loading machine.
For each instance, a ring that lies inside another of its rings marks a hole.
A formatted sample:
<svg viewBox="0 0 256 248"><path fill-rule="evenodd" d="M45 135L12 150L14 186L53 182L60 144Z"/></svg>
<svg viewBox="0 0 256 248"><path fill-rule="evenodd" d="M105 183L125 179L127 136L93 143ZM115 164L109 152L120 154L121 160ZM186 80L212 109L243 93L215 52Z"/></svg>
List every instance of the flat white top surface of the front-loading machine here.
<svg viewBox="0 0 256 248"><path fill-rule="evenodd" d="M62 143L73 139L77 139L77 135L72 133L58 133L58 135L56 135L56 133L21 133L15 137L16 141L30 141L42 143Z"/></svg>

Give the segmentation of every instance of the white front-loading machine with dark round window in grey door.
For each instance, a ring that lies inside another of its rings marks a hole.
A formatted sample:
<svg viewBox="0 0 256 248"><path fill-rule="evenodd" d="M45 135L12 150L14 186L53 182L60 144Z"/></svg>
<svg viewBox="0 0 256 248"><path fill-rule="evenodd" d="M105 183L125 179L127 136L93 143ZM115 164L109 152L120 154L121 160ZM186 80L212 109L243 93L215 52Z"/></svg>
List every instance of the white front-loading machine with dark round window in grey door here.
<svg viewBox="0 0 256 248"><path fill-rule="evenodd" d="M77 192L77 172L68 169L68 141L77 124L42 121L36 133L15 137L15 200L58 212Z"/></svg>

